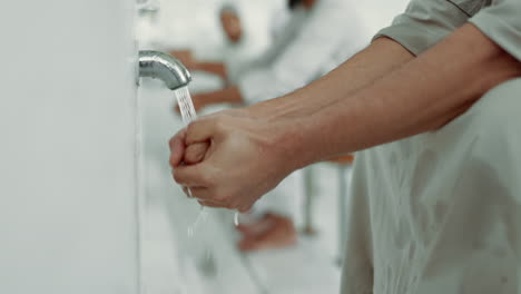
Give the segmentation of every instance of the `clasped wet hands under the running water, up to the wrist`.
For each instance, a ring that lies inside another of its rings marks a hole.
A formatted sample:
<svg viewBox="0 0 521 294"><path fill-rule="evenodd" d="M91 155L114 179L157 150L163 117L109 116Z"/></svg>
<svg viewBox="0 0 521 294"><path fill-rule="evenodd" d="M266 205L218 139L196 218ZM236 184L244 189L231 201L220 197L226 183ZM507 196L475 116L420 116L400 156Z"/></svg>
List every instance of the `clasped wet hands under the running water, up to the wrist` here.
<svg viewBox="0 0 521 294"><path fill-rule="evenodd" d="M285 129L246 109L203 117L170 140L174 179L201 205L247 212L298 167Z"/></svg>

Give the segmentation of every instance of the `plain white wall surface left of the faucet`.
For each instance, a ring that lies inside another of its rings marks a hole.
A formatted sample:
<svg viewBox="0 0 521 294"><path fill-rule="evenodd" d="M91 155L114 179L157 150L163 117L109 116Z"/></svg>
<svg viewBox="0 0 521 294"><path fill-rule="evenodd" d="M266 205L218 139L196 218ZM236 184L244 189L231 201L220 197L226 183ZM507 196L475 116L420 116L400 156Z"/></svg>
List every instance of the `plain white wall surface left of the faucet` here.
<svg viewBox="0 0 521 294"><path fill-rule="evenodd" d="M132 6L0 4L0 293L138 293Z"/></svg>

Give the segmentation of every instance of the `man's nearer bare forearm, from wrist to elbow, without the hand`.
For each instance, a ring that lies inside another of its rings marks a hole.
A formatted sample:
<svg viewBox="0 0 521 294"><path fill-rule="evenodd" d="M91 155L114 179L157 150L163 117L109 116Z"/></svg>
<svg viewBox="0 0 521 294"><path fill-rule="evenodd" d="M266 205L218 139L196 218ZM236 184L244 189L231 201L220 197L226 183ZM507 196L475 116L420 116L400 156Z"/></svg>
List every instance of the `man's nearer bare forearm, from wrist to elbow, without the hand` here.
<svg viewBox="0 0 521 294"><path fill-rule="evenodd" d="M521 65L472 24L372 85L301 119L302 164L434 130L464 112ZM325 85L324 95L342 87Z"/></svg>

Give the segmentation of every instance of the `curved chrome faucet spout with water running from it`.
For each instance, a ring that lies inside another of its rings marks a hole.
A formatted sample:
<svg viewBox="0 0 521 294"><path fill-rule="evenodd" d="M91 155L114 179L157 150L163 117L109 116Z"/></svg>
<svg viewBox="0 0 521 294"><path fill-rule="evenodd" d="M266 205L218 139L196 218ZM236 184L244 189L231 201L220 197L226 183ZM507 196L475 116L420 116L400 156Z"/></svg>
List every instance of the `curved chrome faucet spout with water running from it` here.
<svg viewBox="0 0 521 294"><path fill-rule="evenodd" d="M191 81L188 69L175 57L159 51L139 51L139 77L160 79L170 90Z"/></svg>

